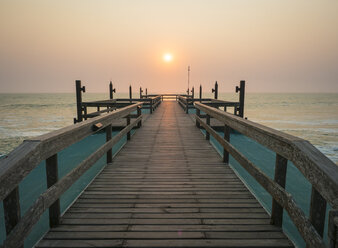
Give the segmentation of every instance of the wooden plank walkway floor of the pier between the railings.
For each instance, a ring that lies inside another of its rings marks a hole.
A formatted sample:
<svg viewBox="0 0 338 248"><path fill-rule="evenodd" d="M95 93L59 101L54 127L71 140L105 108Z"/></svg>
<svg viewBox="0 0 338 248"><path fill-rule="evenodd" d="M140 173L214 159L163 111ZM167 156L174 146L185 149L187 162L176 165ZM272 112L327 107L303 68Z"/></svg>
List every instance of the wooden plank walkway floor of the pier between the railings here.
<svg viewBox="0 0 338 248"><path fill-rule="evenodd" d="M293 247L177 102L163 102L37 247Z"/></svg>

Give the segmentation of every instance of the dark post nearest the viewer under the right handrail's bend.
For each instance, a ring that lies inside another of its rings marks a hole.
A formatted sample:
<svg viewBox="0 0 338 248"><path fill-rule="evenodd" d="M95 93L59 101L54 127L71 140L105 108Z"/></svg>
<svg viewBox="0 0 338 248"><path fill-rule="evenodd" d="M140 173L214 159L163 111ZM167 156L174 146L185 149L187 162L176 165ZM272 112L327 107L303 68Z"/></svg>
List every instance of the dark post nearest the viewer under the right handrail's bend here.
<svg viewBox="0 0 338 248"><path fill-rule="evenodd" d="M312 186L309 220L321 237L323 237L324 232L325 214L326 200Z"/></svg>

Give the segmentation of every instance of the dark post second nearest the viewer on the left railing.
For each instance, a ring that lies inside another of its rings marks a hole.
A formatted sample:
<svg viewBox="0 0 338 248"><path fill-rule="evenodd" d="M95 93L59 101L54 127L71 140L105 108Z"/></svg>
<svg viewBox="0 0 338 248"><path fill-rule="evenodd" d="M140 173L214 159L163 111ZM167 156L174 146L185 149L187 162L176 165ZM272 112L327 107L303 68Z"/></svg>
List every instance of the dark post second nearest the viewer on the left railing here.
<svg viewBox="0 0 338 248"><path fill-rule="evenodd" d="M57 153L46 159L47 188L52 187L59 180ZM49 207L49 226L60 224L60 200L57 199Z"/></svg>

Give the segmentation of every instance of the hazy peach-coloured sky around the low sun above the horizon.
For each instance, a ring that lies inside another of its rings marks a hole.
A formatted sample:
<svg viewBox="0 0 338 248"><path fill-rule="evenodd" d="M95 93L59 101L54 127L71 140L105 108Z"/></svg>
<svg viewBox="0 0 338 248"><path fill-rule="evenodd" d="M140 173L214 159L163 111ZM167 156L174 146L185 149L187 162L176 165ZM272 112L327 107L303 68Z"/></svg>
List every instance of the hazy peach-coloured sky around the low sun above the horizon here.
<svg viewBox="0 0 338 248"><path fill-rule="evenodd" d="M188 66L205 91L338 93L338 1L0 0L0 93L180 93Z"/></svg>

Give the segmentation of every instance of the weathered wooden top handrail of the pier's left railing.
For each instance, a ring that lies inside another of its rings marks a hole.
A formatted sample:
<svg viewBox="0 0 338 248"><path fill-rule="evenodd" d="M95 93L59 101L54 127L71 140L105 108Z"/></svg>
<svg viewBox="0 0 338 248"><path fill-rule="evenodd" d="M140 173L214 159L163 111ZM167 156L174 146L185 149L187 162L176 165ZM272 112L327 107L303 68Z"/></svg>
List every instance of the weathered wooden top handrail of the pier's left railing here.
<svg viewBox="0 0 338 248"><path fill-rule="evenodd" d="M112 120L128 115L142 104L142 102L135 103L111 113L25 140L0 160L0 201L8 196L41 161L97 132L93 130L93 125L101 123L104 128Z"/></svg>

